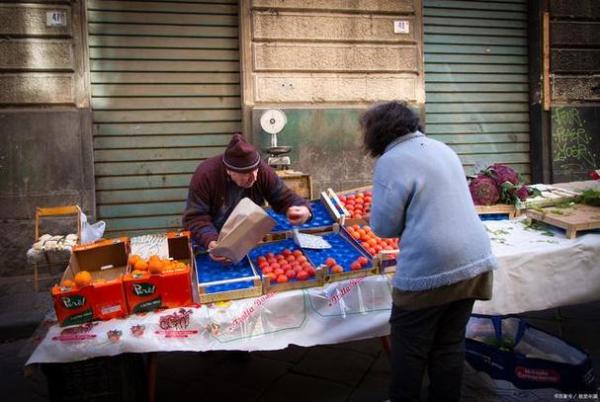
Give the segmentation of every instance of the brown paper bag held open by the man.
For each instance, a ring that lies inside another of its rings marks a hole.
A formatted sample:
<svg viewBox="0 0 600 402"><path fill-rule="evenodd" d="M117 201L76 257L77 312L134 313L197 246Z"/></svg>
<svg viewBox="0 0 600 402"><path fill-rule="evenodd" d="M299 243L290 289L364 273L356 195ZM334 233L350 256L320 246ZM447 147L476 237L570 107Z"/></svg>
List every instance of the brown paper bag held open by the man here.
<svg viewBox="0 0 600 402"><path fill-rule="evenodd" d="M237 264L273 229L275 223L250 198L242 198L223 225L212 253Z"/></svg>

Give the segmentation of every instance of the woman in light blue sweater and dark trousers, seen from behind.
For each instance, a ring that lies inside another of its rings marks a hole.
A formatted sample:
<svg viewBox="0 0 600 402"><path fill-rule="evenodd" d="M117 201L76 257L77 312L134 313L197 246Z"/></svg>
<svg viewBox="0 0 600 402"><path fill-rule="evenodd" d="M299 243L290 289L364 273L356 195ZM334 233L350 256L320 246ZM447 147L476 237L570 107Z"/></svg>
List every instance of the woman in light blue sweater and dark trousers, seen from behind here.
<svg viewBox="0 0 600 402"><path fill-rule="evenodd" d="M392 280L391 401L460 401L465 327L476 299L492 295L497 263L456 153L426 137L403 102L371 107L363 143L378 158L370 224L400 237Z"/></svg>

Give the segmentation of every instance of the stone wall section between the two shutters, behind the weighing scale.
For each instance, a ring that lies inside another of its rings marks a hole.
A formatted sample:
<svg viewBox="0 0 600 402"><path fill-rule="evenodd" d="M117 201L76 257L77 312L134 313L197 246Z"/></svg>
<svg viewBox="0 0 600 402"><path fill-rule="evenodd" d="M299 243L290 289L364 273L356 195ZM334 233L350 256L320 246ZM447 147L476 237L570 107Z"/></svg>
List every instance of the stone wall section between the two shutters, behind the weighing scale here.
<svg viewBox="0 0 600 402"><path fill-rule="evenodd" d="M420 0L242 2L245 131L266 148L264 110L288 117L278 137L314 193L370 182L358 118L377 101L424 103ZM394 29L396 25L398 28ZM406 28L406 29L402 29Z"/></svg>

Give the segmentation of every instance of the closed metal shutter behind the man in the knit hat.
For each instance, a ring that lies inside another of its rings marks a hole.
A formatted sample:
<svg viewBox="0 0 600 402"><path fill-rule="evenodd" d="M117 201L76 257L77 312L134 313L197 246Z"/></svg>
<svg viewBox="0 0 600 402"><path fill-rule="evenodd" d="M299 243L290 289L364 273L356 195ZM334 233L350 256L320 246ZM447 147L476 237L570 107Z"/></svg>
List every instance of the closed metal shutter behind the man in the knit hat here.
<svg viewBox="0 0 600 402"><path fill-rule="evenodd" d="M178 228L196 166L241 130L237 1L87 7L98 219Z"/></svg>

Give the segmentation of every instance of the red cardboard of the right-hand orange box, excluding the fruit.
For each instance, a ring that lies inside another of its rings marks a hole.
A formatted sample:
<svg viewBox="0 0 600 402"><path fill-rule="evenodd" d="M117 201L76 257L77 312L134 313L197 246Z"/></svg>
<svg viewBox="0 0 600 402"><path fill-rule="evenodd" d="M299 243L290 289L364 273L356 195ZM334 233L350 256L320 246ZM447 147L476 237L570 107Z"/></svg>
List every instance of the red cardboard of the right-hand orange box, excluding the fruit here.
<svg viewBox="0 0 600 402"><path fill-rule="evenodd" d="M194 303L192 283L195 269L190 232L170 232L165 236L168 258L185 264L185 267L137 275L133 273L133 267L128 266L127 274L123 276L123 287L129 314Z"/></svg>

